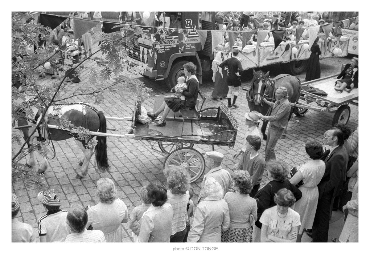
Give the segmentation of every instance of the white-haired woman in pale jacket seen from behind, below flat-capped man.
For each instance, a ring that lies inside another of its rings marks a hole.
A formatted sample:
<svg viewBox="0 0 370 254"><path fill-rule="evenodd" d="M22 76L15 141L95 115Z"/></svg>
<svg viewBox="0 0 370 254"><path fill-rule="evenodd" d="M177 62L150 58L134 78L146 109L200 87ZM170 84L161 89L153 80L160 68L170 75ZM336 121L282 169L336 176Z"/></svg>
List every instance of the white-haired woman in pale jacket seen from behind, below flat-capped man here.
<svg viewBox="0 0 370 254"><path fill-rule="evenodd" d="M204 183L205 198L198 203L188 243L221 243L221 231L230 225L229 207L223 197L221 185L210 177Z"/></svg>

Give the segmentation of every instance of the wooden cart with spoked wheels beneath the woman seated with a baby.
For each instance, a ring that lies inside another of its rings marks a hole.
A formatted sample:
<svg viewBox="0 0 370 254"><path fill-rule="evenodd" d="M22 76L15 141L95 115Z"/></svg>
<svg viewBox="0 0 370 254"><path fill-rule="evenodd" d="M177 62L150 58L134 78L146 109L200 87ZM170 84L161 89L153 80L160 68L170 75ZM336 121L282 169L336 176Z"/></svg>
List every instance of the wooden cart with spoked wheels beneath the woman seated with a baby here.
<svg viewBox="0 0 370 254"><path fill-rule="evenodd" d="M168 116L165 127L156 127L151 122L139 123L140 106L135 105L132 115L135 139L148 141L153 150L165 155L164 167L186 165L191 176L190 182L198 180L205 170L203 155L193 148L194 144L211 145L212 150L214 145L233 147L238 125L223 103L218 108L194 111L194 117L185 116L184 111L180 111L182 115ZM160 150L154 148L157 144Z"/></svg>

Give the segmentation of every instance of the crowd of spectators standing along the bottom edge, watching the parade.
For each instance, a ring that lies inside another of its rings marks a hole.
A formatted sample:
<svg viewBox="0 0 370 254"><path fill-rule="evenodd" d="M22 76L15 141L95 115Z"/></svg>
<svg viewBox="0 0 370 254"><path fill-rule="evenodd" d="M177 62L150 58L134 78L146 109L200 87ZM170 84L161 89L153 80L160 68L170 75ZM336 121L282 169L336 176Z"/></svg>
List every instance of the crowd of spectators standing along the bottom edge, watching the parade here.
<svg viewBox="0 0 370 254"><path fill-rule="evenodd" d="M331 211L337 209L347 217L332 241L358 241L357 129L330 128L324 148L317 141L306 143L307 161L293 169L280 160L260 159L258 135L245 139L243 158L231 174L222 168L223 154L205 153L196 208L186 166L165 168L165 185L143 186L142 204L130 216L108 178L95 186L100 202L85 208L61 210L57 194L40 192L46 209L37 221L40 241L122 242L122 223L130 219L134 242L300 242L304 231L314 242L326 242ZM259 188L264 171L271 181ZM12 241L32 242L33 229L17 219L19 209L12 194Z"/></svg>

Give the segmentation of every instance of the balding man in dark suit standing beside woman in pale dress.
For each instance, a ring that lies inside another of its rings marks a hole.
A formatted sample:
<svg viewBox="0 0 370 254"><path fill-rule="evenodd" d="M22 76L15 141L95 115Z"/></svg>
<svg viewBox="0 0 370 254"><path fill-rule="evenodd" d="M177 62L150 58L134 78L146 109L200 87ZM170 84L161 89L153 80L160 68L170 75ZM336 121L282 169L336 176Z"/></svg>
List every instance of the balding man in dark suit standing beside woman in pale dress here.
<svg viewBox="0 0 370 254"><path fill-rule="evenodd" d="M343 133L338 128L331 128L324 134L324 144L331 148L321 158L325 162L325 173L320 183L319 201L312 226L312 239L315 243L327 243L330 220L330 204L333 196L339 193L343 183L343 170L346 170L348 154L344 144Z"/></svg>

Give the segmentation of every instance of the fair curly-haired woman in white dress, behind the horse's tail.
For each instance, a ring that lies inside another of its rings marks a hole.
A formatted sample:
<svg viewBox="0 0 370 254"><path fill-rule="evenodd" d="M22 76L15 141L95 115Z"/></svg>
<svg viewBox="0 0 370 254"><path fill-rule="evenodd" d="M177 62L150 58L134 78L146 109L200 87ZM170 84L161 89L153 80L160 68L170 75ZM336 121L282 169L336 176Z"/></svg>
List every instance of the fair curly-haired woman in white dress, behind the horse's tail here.
<svg viewBox="0 0 370 254"><path fill-rule="evenodd" d="M122 243L122 224L128 221L125 203L117 198L117 190L109 178L100 178L95 186L100 200L87 210L86 228L101 230L107 243Z"/></svg>

